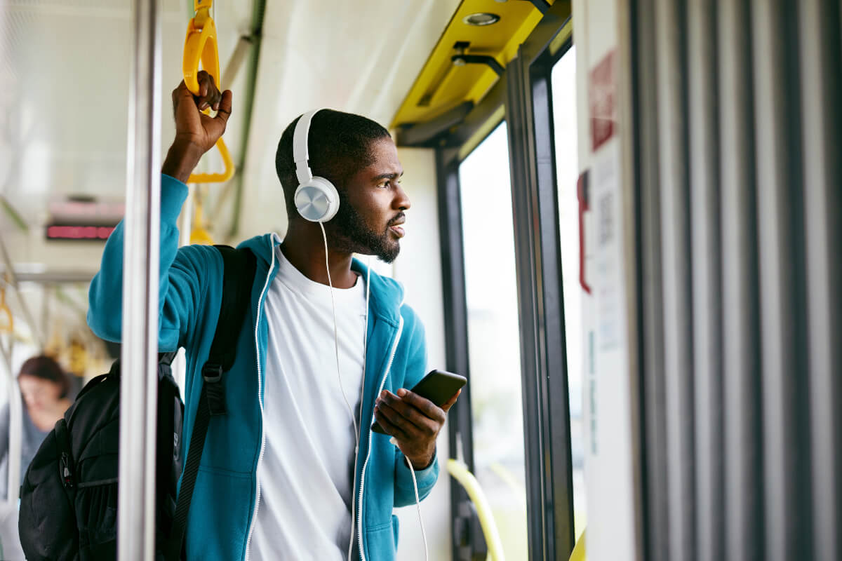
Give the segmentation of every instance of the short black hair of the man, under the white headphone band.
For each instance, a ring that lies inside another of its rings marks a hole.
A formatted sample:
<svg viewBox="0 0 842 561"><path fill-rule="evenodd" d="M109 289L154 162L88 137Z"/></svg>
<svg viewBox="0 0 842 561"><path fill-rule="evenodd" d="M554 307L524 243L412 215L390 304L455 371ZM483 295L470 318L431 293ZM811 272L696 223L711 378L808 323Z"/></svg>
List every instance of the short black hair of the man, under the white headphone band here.
<svg viewBox="0 0 842 561"><path fill-rule="evenodd" d="M274 168L284 188L286 213L296 215L293 197L298 187L296 163L292 156L292 136L296 123L293 120L280 135L278 151L274 156ZM313 115L307 146L310 149L310 169L313 175L328 179L342 190L344 184L364 167L374 161L372 144L376 140L392 138L381 124L351 113L322 109Z"/></svg>

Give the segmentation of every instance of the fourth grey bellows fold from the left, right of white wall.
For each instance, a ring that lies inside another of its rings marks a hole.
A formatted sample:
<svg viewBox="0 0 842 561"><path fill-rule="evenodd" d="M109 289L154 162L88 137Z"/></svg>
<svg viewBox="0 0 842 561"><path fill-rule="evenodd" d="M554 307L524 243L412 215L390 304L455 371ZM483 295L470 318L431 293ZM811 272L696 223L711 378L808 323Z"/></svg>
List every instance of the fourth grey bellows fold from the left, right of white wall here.
<svg viewBox="0 0 842 561"><path fill-rule="evenodd" d="M726 556L763 558L751 35L745 0L717 6Z"/></svg>

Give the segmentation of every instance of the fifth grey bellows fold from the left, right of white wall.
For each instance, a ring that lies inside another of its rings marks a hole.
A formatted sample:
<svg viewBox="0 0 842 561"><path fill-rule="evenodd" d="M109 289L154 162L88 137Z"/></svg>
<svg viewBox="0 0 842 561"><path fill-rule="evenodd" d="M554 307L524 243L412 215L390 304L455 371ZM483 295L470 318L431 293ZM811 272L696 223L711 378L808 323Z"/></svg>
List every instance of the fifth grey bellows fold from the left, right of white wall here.
<svg viewBox="0 0 842 561"><path fill-rule="evenodd" d="M790 0L754 0L754 121L763 397L765 558L809 546L809 439L797 29Z"/></svg>

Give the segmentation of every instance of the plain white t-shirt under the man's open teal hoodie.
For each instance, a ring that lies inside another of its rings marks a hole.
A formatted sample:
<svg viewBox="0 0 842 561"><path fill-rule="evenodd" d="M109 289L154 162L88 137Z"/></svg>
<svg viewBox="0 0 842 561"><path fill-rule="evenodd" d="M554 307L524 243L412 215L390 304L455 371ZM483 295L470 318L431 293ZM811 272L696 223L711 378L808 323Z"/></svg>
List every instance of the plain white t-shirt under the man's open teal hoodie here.
<svg viewBox="0 0 842 561"><path fill-rule="evenodd" d="M336 368L328 286L306 278L275 248L266 294L264 437L253 559L346 558L351 537L354 425ZM344 393L360 421L365 279L333 288Z"/></svg>

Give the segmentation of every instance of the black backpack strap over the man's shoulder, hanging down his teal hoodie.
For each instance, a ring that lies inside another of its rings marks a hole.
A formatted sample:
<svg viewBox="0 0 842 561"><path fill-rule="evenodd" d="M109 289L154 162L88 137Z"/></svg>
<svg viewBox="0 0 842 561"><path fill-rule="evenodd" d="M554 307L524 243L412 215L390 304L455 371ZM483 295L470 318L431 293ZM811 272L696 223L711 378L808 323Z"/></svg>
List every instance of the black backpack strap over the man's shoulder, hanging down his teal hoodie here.
<svg viewBox="0 0 842 561"><path fill-rule="evenodd" d="M167 555L168 561L178 559L187 528L187 514L193 499L199 462L205 448L208 423L211 415L225 415L225 394L221 383L222 374L234 364L237 357L237 337L242 330L242 322L251 304L251 290L257 260L248 249L236 250L230 246L216 246L223 262L222 301L216 333L210 345L210 353L202 366L203 384L196 408L196 419L187 461L184 463L184 475L179 489L179 500L173 516L173 530L170 532Z"/></svg>

